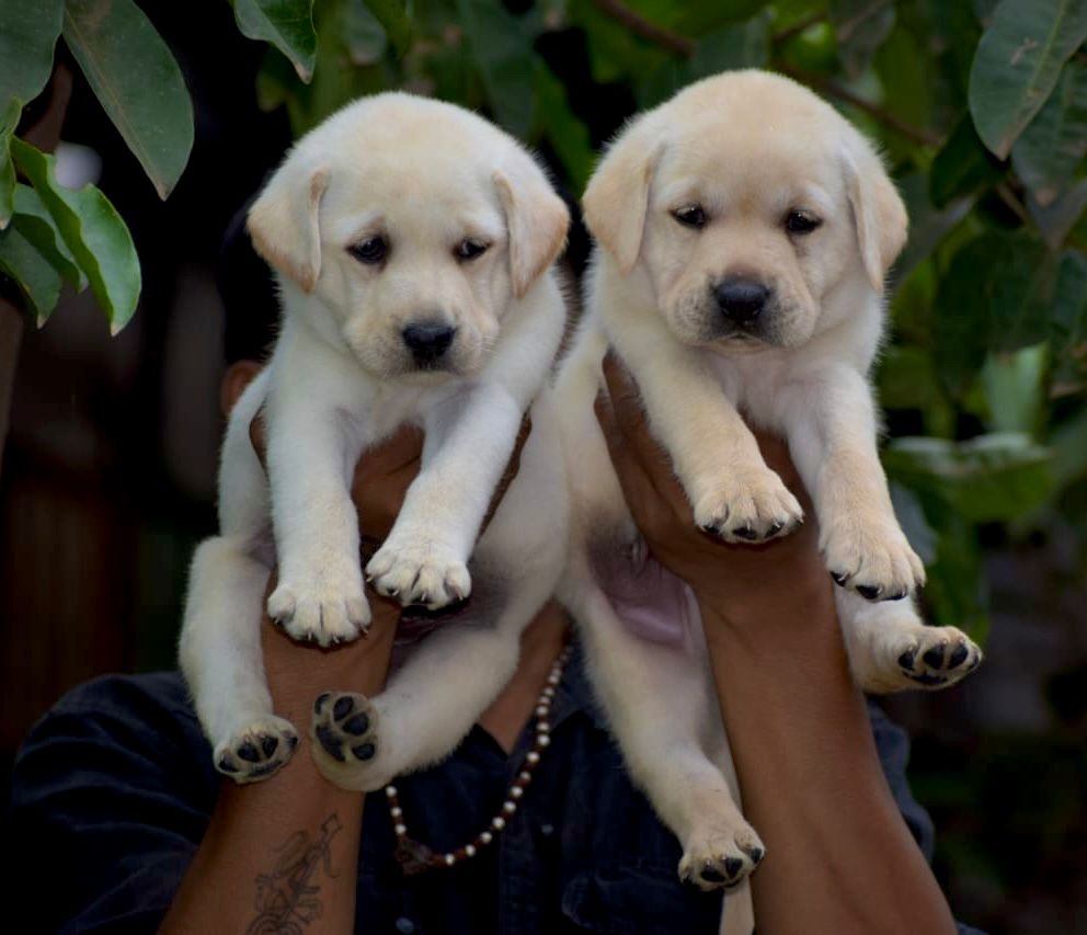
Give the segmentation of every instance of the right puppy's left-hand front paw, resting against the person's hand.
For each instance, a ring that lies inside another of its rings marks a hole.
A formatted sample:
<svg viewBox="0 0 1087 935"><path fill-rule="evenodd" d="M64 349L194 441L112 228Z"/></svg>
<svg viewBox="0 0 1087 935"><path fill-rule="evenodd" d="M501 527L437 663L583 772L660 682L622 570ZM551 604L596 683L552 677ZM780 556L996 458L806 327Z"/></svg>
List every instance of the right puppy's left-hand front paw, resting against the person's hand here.
<svg viewBox="0 0 1087 935"><path fill-rule="evenodd" d="M734 470L699 497L695 522L728 543L762 543L791 533L803 522L800 502L766 466Z"/></svg>

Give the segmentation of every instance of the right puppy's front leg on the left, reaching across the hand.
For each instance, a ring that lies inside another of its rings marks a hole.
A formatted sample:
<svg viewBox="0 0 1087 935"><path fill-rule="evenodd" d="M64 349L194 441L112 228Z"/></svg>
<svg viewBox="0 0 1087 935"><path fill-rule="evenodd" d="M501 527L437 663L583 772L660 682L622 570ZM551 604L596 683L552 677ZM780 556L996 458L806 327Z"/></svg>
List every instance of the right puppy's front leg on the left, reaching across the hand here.
<svg viewBox="0 0 1087 935"><path fill-rule="evenodd" d="M697 354L659 342L652 358L630 361L654 436L672 456L695 522L726 541L791 532L803 518L797 498L770 468L720 380Z"/></svg>

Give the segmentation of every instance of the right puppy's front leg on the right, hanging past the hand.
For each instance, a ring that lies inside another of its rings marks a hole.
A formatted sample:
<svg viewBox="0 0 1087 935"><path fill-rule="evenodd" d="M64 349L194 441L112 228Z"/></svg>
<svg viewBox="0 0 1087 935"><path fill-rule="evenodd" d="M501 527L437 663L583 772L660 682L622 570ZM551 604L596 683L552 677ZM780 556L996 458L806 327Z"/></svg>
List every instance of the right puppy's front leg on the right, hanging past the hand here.
<svg viewBox="0 0 1087 935"><path fill-rule="evenodd" d="M894 515L868 383L835 367L788 391L789 448L815 504L831 574L870 601L906 596L924 584L925 567Z"/></svg>

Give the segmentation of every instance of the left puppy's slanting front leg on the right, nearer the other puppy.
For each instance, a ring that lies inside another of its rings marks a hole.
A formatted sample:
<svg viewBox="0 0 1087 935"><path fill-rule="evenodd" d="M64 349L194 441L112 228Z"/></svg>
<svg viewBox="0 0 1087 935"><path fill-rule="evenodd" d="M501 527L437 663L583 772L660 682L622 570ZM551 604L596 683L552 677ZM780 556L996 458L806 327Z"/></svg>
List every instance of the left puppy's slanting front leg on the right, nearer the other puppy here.
<svg viewBox="0 0 1087 935"><path fill-rule="evenodd" d="M520 419L514 398L495 384L476 385L431 409L422 469L366 567L380 593L432 609L468 596L468 558Z"/></svg>

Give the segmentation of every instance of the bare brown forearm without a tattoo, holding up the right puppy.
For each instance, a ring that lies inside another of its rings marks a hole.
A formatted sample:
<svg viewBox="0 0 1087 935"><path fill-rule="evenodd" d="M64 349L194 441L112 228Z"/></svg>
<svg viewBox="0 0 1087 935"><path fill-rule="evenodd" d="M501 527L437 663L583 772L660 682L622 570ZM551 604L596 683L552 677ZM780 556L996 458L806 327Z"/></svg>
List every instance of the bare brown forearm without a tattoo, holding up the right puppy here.
<svg viewBox="0 0 1087 935"><path fill-rule="evenodd" d="M759 935L953 933L895 806L824 581L726 620L701 602L745 817Z"/></svg>

